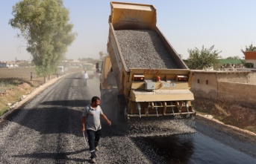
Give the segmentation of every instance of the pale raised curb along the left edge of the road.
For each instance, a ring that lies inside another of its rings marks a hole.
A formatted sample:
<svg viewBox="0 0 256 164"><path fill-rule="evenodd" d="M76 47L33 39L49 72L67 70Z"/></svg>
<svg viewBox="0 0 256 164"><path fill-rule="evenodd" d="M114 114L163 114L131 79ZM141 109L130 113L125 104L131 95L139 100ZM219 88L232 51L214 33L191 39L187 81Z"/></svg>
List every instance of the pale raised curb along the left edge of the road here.
<svg viewBox="0 0 256 164"><path fill-rule="evenodd" d="M63 75L63 76L59 76L59 77L55 77L53 79L49 79L49 81L47 81L45 84L40 85L37 88L34 88L33 91L31 91L30 94L26 95L24 99L15 102L16 105L14 108L10 109L9 111L7 111L5 114L3 114L0 117L0 123L4 121L4 119L6 117L8 117L10 114L13 113L13 111L16 111L17 109L21 108L22 105L25 105L25 103L29 102L31 99L33 99L35 96L37 96L38 94L40 94L43 90L45 90L46 88L48 88L49 86L53 85L55 82L57 82L59 79L62 79L64 76L66 76L67 74Z"/></svg>

